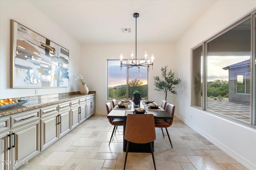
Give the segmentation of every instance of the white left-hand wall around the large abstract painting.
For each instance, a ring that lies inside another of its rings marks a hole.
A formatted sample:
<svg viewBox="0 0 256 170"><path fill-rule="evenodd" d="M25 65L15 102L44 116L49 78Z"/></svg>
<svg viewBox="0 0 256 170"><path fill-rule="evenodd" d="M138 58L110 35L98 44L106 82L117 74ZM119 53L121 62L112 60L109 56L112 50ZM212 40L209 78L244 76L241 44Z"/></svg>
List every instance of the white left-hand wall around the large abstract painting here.
<svg viewBox="0 0 256 170"><path fill-rule="evenodd" d="M69 87L38 88L38 95L78 91L78 82L73 75L81 70L82 46L78 41L47 18L26 0L0 1L0 99L34 96L35 89L11 88L11 19L18 21L33 31L69 50Z"/></svg>

